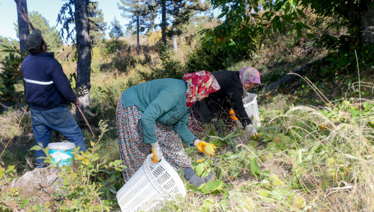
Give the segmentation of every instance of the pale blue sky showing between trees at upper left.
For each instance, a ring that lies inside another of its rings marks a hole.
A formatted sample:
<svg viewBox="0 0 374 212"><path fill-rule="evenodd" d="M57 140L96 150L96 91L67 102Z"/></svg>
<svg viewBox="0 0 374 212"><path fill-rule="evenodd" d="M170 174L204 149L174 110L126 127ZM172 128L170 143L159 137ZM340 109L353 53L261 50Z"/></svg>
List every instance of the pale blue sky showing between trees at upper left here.
<svg viewBox="0 0 374 212"><path fill-rule="evenodd" d="M125 18L122 18L121 11L117 8L119 0L96 0L96 2L99 3L99 9L104 14L104 21L107 22L107 26L110 26L114 17L122 26L128 23ZM50 26L56 27L57 15L64 3L66 1L63 0L27 0L27 11L37 11L49 21ZM13 23L17 23L16 3L14 0L0 0L0 35L18 40ZM60 30L61 26L57 26L57 29ZM107 35L108 32L109 30L107 30Z"/></svg>

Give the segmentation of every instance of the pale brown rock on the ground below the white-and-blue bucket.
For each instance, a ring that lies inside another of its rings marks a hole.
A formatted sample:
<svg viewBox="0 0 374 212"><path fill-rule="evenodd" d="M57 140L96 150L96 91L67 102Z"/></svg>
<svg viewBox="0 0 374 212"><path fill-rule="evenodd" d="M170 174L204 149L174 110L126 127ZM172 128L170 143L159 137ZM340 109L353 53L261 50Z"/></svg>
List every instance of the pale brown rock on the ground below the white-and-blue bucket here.
<svg viewBox="0 0 374 212"><path fill-rule="evenodd" d="M52 200L56 191L61 192L60 185L54 184L54 182L59 182L62 185L62 178L57 176L59 172L61 170L57 168L35 168L20 178L14 179L11 187L21 188L19 194L22 197L32 197L36 204L43 204L45 201Z"/></svg>

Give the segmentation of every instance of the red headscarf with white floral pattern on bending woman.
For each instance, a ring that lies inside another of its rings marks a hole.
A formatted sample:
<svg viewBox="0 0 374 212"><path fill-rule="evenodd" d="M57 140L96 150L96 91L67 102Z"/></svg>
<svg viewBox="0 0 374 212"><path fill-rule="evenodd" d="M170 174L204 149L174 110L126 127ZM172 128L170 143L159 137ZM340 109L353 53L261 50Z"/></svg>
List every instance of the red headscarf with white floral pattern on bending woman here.
<svg viewBox="0 0 374 212"><path fill-rule="evenodd" d="M219 90L216 78L208 71L199 71L184 74L183 80L187 83L186 102L190 108L201 95L206 95Z"/></svg>

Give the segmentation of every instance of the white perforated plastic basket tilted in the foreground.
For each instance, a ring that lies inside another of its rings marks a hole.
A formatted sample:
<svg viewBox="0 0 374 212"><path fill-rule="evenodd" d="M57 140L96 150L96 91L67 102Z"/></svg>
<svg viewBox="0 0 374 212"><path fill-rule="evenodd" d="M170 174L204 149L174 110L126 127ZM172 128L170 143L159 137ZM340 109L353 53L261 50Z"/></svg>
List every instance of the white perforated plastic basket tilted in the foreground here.
<svg viewBox="0 0 374 212"><path fill-rule="evenodd" d="M183 181L164 157L157 164L153 154L147 156L139 170L117 192L117 201L122 211L156 211L163 201L179 194L185 196Z"/></svg>

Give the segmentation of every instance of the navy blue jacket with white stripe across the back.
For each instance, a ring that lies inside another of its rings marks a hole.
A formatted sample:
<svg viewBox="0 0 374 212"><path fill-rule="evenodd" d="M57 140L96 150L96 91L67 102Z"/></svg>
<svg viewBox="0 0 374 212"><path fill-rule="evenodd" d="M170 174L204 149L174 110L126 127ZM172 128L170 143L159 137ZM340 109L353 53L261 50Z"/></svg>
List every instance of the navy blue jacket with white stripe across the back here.
<svg viewBox="0 0 374 212"><path fill-rule="evenodd" d="M31 109L43 111L68 107L67 101L76 102L77 96L53 52L27 56L21 70Z"/></svg>

